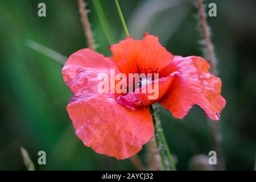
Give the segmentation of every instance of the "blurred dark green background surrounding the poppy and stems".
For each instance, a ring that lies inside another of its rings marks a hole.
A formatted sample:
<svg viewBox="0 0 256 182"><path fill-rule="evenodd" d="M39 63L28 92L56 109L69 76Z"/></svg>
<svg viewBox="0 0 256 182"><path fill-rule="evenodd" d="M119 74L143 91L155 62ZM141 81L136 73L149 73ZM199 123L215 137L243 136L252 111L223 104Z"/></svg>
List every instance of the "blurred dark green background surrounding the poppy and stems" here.
<svg viewBox="0 0 256 182"><path fill-rule="evenodd" d="M38 3L46 3L46 17ZM110 55L92 1L89 19L98 51ZM101 0L117 42L125 38L114 1ZM255 1L215 2L217 17L208 17L227 105L220 129L226 169L253 170L256 149L256 21ZM203 56L195 1L119 0L130 35L159 36L174 55ZM209 9L207 9L209 10ZM61 76L62 64L27 46L34 40L64 56L87 47L77 1L0 1L0 169L26 170L20 146L27 149L38 170L135 169L129 159L116 160L85 147L76 137L66 106L72 97ZM177 168L188 170L189 160L213 150L209 122L195 106L179 120L161 108L164 133ZM139 156L146 164L146 147ZM47 165L38 165L38 151Z"/></svg>

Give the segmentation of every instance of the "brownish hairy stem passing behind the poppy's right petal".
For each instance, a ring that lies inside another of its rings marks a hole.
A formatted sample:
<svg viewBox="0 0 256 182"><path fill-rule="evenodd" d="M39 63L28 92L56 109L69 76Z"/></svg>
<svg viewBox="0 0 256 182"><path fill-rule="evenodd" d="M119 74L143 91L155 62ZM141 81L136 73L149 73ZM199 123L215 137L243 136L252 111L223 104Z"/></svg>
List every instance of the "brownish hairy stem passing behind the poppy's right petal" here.
<svg viewBox="0 0 256 182"><path fill-rule="evenodd" d="M201 30L204 36L206 53L207 53L207 57L210 64L210 72L212 72L214 75L217 75L217 68L216 68L217 61L214 55L214 47L212 44L212 40L210 39L210 31L209 31L207 19L205 17L205 8L202 0L197 0L197 8L199 12ZM210 122L210 126L212 130L213 147L217 153L217 159L218 159L216 169L224 170L225 166L222 158L222 149L221 149L221 141L220 141L220 132L218 130L218 123Z"/></svg>

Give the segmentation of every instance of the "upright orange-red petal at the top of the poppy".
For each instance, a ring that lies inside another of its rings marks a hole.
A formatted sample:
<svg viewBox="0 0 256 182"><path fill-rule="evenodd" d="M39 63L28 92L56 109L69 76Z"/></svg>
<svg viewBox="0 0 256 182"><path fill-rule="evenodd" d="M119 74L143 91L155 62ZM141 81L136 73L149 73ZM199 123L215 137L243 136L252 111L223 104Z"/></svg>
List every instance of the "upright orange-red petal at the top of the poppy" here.
<svg viewBox="0 0 256 182"><path fill-rule="evenodd" d="M174 59L158 37L144 34L142 40L126 38L110 46L113 58L122 73L160 73Z"/></svg>

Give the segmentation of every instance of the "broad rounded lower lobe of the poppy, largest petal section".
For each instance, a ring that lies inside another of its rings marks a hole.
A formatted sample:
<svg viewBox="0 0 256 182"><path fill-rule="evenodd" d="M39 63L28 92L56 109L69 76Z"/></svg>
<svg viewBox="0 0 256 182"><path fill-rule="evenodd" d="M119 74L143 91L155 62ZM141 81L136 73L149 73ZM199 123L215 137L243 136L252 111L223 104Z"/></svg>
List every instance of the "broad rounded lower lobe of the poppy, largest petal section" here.
<svg viewBox="0 0 256 182"><path fill-rule="evenodd" d="M114 96L73 97L67 110L76 135L99 154L126 159L137 154L154 134L148 107L131 110Z"/></svg>

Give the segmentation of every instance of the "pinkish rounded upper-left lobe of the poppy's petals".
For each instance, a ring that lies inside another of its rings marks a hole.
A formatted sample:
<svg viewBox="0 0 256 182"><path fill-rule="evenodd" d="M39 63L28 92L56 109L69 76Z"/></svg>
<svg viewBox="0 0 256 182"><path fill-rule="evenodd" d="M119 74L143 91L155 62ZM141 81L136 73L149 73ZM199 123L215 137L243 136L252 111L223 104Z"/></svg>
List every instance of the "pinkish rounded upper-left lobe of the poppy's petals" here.
<svg viewBox="0 0 256 182"><path fill-rule="evenodd" d="M62 74L65 83L73 93L78 94L81 91L93 94L97 92L97 85L101 82L97 79L98 75L104 73L110 76L110 69L115 69L116 74L119 73L113 60L86 48L80 49L69 57L62 69Z"/></svg>

